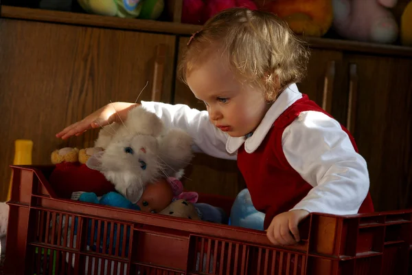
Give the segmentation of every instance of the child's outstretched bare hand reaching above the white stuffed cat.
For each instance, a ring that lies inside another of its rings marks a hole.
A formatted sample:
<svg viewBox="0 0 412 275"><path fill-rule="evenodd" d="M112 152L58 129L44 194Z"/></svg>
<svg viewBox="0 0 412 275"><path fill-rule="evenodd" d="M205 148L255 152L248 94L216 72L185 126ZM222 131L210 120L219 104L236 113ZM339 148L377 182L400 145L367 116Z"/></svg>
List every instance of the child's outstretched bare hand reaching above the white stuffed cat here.
<svg viewBox="0 0 412 275"><path fill-rule="evenodd" d="M139 104L128 102L113 102L107 104L98 109L98 111L87 115L86 118L67 126L64 130L60 131L56 137L61 137L62 140L65 140L67 137L71 137L71 135L81 135L89 129L106 126L113 122L120 122L120 118L126 120L128 111L138 105Z"/></svg>

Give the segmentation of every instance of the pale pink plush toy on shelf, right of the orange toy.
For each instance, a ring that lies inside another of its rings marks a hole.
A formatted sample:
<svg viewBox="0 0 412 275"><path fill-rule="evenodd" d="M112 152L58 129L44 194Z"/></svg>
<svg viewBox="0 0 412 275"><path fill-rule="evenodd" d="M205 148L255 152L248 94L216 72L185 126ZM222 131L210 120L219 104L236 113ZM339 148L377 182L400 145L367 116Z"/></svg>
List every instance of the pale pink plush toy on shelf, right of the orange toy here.
<svg viewBox="0 0 412 275"><path fill-rule="evenodd" d="M398 38L398 23L387 8L397 0L332 0L334 30L346 39L374 43L393 43Z"/></svg>

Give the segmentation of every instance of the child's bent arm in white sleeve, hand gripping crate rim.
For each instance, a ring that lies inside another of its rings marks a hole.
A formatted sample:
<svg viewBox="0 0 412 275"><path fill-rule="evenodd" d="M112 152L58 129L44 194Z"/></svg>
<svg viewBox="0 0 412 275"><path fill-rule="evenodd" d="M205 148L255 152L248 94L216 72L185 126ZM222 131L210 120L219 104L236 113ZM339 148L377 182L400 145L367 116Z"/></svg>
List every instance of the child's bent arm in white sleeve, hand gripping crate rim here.
<svg viewBox="0 0 412 275"><path fill-rule="evenodd" d="M293 209L273 218L267 230L272 243L299 241L297 225L310 212L358 212L369 190L367 164L339 122L320 112L301 113L285 129L282 147L290 166L313 188Z"/></svg>

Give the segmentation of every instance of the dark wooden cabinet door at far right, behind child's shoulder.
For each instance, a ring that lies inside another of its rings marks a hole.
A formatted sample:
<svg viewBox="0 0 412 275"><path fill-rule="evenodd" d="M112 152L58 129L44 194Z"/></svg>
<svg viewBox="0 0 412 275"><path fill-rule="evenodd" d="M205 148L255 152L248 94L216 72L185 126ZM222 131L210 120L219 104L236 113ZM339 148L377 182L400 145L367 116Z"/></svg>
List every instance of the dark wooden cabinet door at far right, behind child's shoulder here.
<svg viewBox="0 0 412 275"><path fill-rule="evenodd" d="M376 210L412 207L412 59L348 54L347 128L367 161Z"/></svg>

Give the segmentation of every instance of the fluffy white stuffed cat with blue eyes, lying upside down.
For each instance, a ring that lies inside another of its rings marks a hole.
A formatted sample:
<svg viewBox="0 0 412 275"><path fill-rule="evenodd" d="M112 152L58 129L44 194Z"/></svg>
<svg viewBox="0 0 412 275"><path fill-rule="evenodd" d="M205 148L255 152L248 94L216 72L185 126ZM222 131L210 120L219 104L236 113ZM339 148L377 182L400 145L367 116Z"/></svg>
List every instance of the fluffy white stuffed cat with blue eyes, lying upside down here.
<svg viewBox="0 0 412 275"><path fill-rule="evenodd" d="M143 107L127 120L100 130L89 168L100 170L115 189L136 203L146 184L159 177L181 177L192 159L192 137L181 129L166 129L160 118Z"/></svg>

